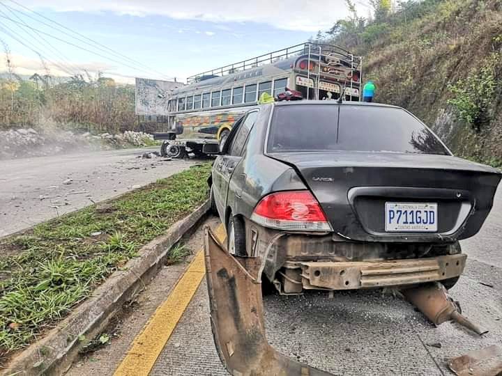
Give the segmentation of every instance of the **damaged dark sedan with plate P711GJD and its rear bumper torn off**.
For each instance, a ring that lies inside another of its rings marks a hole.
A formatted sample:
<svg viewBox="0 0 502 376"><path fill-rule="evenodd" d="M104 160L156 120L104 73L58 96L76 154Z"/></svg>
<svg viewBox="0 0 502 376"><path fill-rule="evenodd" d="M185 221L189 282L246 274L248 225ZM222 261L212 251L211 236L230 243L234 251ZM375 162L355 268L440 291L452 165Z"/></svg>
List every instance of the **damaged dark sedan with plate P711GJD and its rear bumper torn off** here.
<svg viewBox="0 0 502 376"><path fill-rule="evenodd" d="M298 101L248 111L215 159L229 253L282 294L441 281L451 288L501 175L452 156L408 111Z"/></svg>

